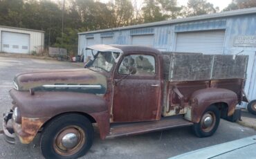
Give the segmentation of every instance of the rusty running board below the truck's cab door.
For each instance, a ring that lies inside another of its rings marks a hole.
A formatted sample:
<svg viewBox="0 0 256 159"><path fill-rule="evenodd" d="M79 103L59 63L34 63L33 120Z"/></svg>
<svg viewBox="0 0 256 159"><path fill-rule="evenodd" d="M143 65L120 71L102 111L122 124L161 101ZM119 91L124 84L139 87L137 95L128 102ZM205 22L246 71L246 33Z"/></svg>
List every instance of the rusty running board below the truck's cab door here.
<svg viewBox="0 0 256 159"><path fill-rule="evenodd" d="M190 126L192 124L192 122L184 120L183 115L164 117L161 120L151 122L112 123L109 135L106 138L138 135L140 133Z"/></svg>

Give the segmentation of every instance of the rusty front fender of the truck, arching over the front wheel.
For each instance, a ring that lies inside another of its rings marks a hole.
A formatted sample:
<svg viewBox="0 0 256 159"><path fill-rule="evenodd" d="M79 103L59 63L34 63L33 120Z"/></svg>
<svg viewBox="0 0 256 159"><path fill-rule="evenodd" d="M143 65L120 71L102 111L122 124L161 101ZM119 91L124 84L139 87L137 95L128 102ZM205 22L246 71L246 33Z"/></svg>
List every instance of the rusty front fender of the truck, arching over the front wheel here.
<svg viewBox="0 0 256 159"><path fill-rule="evenodd" d="M109 133L109 111L102 97L75 92L21 92L12 89L10 95L19 107L21 124L13 127L22 143L29 143L42 125L62 113L84 113L98 123L102 139Z"/></svg>

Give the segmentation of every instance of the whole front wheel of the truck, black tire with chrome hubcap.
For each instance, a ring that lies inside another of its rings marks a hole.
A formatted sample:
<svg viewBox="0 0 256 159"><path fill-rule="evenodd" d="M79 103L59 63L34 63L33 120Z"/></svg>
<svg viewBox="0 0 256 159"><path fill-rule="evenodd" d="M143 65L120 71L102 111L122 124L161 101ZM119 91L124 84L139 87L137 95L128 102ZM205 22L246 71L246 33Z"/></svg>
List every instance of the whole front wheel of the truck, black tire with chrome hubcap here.
<svg viewBox="0 0 256 159"><path fill-rule="evenodd" d="M40 147L45 158L78 158L93 143L93 126L79 114L54 118L42 131Z"/></svg>

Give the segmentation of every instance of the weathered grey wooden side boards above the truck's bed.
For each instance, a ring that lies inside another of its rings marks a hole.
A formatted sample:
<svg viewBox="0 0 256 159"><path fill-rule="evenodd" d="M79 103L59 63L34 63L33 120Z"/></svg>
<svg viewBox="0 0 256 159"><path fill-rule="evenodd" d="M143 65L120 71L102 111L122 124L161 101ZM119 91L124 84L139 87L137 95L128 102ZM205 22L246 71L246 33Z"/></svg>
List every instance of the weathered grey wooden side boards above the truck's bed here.
<svg viewBox="0 0 256 159"><path fill-rule="evenodd" d="M164 76L171 82L244 79L247 64L246 55L163 54Z"/></svg>

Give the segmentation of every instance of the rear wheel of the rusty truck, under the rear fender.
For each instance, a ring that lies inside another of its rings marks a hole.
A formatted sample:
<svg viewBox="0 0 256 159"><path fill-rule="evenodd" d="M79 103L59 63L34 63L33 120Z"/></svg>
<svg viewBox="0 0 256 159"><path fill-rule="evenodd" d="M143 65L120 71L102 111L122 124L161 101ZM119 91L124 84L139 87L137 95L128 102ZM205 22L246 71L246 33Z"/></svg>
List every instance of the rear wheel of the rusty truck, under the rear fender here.
<svg viewBox="0 0 256 159"><path fill-rule="evenodd" d="M193 131L199 138L205 138L215 133L219 127L220 111L211 105L206 109L199 123L194 123Z"/></svg>

